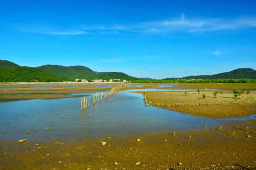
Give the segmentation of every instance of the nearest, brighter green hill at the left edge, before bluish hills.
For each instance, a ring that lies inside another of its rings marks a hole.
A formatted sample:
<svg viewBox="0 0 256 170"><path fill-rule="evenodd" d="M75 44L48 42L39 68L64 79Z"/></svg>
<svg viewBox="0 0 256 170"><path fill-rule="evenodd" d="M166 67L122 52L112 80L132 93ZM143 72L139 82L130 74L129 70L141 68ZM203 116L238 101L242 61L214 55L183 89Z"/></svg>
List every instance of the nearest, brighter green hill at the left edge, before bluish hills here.
<svg viewBox="0 0 256 170"><path fill-rule="evenodd" d="M67 79L31 67L0 68L0 82L62 82Z"/></svg>

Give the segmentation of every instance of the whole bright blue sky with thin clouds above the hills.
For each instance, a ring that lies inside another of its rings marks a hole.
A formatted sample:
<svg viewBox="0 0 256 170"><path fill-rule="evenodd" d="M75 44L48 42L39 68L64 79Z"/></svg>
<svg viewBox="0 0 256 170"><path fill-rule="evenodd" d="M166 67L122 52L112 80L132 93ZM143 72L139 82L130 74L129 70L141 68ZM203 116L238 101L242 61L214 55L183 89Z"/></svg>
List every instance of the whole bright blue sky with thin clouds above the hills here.
<svg viewBox="0 0 256 170"><path fill-rule="evenodd" d="M161 79L256 69L256 0L1 0L0 59Z"/></svg>

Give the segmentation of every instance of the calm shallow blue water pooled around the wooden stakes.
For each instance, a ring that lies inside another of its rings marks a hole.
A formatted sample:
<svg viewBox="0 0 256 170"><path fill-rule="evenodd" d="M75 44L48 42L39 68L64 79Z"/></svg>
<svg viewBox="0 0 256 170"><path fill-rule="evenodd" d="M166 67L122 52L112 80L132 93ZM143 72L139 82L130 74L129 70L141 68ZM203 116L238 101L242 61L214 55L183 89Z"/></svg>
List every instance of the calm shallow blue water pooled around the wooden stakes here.
<svg viewBox="0 0 256 170"><path fill-rule="evenodd" d="M78 94L81 95L81 94ZM83 93L84 96L92 93ZM91 96L92 99L92 96ZM0 103L0 134L7 140L67 140L215 127L214 119L146 107L139 93L115 93L87 110L81 97ZM243 118L252 119L255 116ZM239 119L218 119L239 120ZM46 127L50 127L46 130ZM129 131L131 130L131 131ZM26 134L30 132L30 134Z"/></svg>

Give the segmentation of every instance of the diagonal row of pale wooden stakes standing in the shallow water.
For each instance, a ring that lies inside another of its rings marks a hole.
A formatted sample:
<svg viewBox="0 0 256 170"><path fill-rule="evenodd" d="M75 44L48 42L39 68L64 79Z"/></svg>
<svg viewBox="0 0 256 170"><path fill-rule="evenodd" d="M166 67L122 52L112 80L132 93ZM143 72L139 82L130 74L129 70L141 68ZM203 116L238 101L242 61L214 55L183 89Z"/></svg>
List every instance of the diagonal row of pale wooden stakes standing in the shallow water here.
<svg viewBox="0 0 256 170"><path fill-rule="evenodd" d="M119 86L116 86L116 87L113 87L110 91L106 91L105 92L105 96L104 98L107 98L109 97L110 95L114 94L115 92L119 91L121 88L124 88L124 87L127 87L128 85L130 84L125 84L125 85L119 85ZM89 100L87 102L87 97L83 97L82 100L81 100L81 110L84 110L84 109L87 109L87 107L89 107L90 105L90 97L89 96ZM103 98L103 92L99 92L99 93L93 93L92 94L92 104L96 103L96 102L100 102ZM88 105L87 105L88 103Z"/></svg>

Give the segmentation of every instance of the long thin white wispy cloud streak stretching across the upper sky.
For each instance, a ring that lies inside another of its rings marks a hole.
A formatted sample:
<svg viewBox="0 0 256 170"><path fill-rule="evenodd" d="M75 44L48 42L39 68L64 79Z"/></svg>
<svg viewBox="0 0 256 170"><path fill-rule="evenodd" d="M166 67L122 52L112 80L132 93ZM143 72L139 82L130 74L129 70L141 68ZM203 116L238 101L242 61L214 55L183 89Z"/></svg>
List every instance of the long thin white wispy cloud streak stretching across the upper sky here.
<svg viewBox="0 0 256 170"><path fill-rule="evenodd" d="M247 28L256 27L256 17L239 17L236 19L186 17L181 14L179 17L166 20L154 20L133 23L130 25L108 25L108 26L87 26L81 25L79 29L58 29L49 27L21 27L24 32L52 35L78 35L78 34L158 34L168 36L174 33L202 34L218 31L233 32Z"/></svg>

